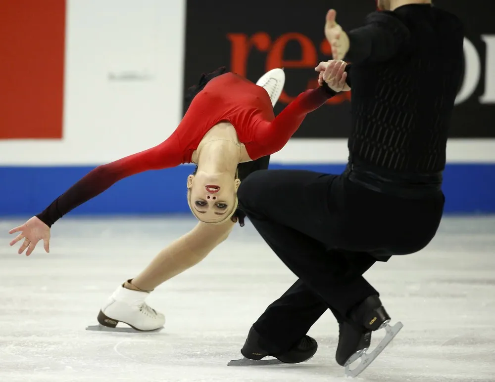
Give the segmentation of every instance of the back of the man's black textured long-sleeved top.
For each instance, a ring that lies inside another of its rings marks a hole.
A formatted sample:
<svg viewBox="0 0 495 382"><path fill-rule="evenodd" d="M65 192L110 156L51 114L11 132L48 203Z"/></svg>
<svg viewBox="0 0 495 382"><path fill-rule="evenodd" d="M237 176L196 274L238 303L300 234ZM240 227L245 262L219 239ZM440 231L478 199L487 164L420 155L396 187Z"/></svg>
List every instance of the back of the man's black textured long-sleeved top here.
<svg viewBox="0 0 495 382"><path fill-rule="evenodd" d="M462 24L424 4L375 12L368 21L389 23L402 41L391 57L370 56L351 69L350 159L402 173L442 171L463 70Z"/></svg>

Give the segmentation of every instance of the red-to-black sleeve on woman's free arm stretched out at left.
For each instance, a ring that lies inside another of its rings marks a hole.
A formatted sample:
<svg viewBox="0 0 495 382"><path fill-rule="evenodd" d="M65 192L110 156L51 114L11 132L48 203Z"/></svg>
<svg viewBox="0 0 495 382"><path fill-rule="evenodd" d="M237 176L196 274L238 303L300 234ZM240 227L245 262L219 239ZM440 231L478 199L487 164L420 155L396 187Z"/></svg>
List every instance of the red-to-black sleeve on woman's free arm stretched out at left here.
<svg viewBox="0 0 495 382"><path fill-rule="evenodd" d="M51 227L67 212L101 194L120 179L147 170L160 170L180 165L183 159L182 151L177 134L174 132L158 146L98 166L36 216Z"/></svg>

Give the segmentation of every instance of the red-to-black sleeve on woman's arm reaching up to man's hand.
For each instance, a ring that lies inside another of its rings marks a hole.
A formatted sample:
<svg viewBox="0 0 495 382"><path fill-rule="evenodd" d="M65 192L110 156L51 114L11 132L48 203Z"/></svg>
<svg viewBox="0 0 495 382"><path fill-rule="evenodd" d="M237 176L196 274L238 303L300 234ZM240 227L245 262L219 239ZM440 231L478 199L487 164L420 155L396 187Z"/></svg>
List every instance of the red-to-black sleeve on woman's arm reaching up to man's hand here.
<svg viewBox="0 0 495 382"><path fill-rule="evenodd" d="M255 127L254 141L257 147L248 152L249 157L255 160L282 150L306 115L336 94L327 84L300 93L272 122L262 121Z"/></svg>

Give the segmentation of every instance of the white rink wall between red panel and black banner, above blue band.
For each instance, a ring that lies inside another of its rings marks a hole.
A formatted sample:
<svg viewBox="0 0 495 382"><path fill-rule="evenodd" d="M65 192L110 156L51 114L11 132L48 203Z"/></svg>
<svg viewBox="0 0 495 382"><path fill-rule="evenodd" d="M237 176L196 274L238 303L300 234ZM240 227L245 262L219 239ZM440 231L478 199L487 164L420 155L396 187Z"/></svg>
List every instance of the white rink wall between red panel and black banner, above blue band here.
<svg viewBox="0 0 495 382"><path fill-rule="evenodd" d="M185 12L185 0L68 0L63 138L0 140L0 166L99 165L166 139L181 118ZM463 99L479 81L473 49ZM495 140L451 139L447 159L493 163ZM272 161L346 160L345 139L292 139Z"/></svg>

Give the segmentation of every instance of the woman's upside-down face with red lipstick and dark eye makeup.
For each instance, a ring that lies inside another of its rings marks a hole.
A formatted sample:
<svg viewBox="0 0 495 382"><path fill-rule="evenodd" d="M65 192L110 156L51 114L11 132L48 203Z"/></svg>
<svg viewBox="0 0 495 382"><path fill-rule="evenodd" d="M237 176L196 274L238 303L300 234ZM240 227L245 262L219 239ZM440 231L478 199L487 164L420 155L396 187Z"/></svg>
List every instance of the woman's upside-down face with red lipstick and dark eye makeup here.
<svg viewBox="0 0 495 382"><path fill-rule="evenodd" d="M241 181L232 174L221 172L208 174L198 171L189 175L190 206L199 220L207 223L220 222L236 206L237 189Z"/></svg>

